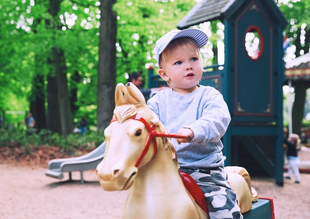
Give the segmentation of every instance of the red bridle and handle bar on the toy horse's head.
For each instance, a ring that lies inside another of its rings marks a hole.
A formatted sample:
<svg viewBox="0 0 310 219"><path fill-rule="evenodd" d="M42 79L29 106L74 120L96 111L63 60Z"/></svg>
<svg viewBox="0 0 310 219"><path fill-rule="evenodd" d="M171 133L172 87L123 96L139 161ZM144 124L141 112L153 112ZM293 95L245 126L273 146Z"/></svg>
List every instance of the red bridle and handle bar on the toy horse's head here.
<svg viewBox="0 0 310 219"><path fill-rule="evenodd" d="M138 121L142 122L145 125L145 127L147 128L147 130L149 131L149 136L148 136L147 142L146 142L146 144L143 148L143 151L141 152L138 160L136 161L135 167L139 167L140 162L142 161L142 159L144 158L144 156L146 155L146 153L149 150L149 147L151 145L152 140L153 140L153 146L154 146L153 157L156 155L156 153L157 153L157 143L156 143L156 139L155 139L156 137L173 137L173 138L183 138L183 139L189 138L189 136L185 136L185 135L157 133L155 131L154 124L150 125L144 118L142 118L140 116L134 116L134 117L131 117L130 119L138 120ZM110 123L115 122L115 121L117 121L116 118L113 118Z"/></svg>

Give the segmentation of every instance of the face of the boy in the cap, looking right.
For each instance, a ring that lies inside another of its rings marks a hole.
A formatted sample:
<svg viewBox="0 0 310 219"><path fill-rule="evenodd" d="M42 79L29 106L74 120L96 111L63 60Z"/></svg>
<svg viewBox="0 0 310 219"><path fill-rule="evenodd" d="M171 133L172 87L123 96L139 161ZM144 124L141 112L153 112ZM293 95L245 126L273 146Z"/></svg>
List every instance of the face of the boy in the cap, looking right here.
<svg viewBox="0 0 310 219"><path fill-rule="evenodd" d="M203 75L199 51L192 46L177 46L158 70L160 77L175 91L195 90Z"/></svg>

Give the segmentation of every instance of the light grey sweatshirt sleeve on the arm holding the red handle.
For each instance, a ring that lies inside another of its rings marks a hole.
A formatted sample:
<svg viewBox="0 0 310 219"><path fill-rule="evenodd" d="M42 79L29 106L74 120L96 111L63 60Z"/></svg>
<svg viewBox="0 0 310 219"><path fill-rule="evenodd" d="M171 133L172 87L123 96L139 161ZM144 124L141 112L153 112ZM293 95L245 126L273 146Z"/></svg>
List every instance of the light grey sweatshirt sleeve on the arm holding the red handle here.
<svg viewBox="0 0 310 219"><path fill-rule="evenodd" d="M222 94L215 93L205 102L202 116L187 127L193 131L194 138L191 142L206 144L218 142L226 132L230 123L230 114Z"/></svg>

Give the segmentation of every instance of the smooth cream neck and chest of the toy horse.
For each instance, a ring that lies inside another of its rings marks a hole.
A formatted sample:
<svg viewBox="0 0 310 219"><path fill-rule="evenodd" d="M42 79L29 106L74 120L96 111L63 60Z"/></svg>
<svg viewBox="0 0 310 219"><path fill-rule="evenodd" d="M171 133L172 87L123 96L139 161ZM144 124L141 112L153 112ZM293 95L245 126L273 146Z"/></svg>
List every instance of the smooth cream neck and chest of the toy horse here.
<svg viewBox="0 0 310 219"><path fill-rule="evenodd" d="M129 189L126 219L207 219L185 189L171 155L158 147L151 162L139 168Z"/></svg>

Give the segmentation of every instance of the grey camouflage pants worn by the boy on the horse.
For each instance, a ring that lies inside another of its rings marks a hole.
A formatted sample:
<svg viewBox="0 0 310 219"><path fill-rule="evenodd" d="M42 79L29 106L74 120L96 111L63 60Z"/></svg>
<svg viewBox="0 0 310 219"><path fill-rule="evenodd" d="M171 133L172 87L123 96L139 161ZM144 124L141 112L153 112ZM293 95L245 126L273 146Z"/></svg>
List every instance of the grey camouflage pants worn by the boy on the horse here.
<svg viewBox="0 0 310 219"><path fill-rule="evenodd" d="M243 219L237 204L236 193L226 180L226 171L180 169L192 176L205 194L210 219Z"/></svg>

